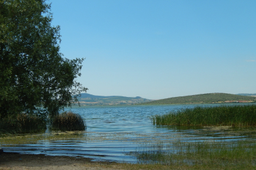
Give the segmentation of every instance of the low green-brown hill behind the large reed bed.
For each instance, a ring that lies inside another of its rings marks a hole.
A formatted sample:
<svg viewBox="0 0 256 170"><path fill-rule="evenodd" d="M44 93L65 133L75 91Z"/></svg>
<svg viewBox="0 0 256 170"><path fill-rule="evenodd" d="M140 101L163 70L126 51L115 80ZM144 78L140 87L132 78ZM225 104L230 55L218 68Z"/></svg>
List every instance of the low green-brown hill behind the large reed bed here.
<svg viewBox="0 0 256 170"><path fill-rule="evenodd" d="M207 93L191 96L159 99L143 103L143 105L164 105L164 104L199 104L199 103L252 103L256 98L252 96L241 96L227 93Z"/></svg>

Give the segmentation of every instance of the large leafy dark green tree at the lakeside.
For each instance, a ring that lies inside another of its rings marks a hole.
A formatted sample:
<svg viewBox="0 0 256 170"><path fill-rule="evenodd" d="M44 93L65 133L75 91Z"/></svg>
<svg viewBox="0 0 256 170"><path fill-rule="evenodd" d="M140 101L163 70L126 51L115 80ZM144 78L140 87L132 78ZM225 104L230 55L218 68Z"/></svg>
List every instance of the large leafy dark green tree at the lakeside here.
<svg viewBox="0 0 256 170"><path fill-rule="evenodd" d="M0 118L54 116L86 91L76 82L83 59L64 59L59 26L46 0L0 0Z"/></svg>

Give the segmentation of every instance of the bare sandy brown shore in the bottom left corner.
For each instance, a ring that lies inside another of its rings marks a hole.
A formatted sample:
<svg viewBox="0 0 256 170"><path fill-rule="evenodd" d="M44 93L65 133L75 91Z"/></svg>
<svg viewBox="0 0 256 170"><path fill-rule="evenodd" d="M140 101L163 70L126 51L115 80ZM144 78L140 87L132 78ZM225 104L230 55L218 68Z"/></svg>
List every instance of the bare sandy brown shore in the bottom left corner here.
<svg viewBox="0 0 256 170"><path fill-rule="evenodd" d="M4 152L0 156L0 169L121 169L115 162L92 162L88 158L45 156Z"/></svg>

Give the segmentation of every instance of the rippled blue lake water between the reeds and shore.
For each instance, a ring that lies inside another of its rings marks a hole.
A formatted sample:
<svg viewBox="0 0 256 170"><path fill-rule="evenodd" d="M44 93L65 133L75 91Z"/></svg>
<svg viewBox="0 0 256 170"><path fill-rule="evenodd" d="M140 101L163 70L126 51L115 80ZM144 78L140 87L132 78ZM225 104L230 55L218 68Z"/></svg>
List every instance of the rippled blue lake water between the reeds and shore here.
<svg viewBox="0 0 256 170"><path fill-rule="evenodd" d="M170 111L197 105L154 105L154 106L95 106L71 108L80 114L87 130L64 140L39 140L36 144L5 146L5 152L22 154L46 154L50 156L89 157L94 161L137 162L129 153L142 149L145 145L170 144L171 142L224 141L255 139L250 135L253 129L244 130L230 127L156 127L152 125L152 115L162 115ZM218 105L201 105L218 106ZM44 135L52 135L46 132Z"/></svg>

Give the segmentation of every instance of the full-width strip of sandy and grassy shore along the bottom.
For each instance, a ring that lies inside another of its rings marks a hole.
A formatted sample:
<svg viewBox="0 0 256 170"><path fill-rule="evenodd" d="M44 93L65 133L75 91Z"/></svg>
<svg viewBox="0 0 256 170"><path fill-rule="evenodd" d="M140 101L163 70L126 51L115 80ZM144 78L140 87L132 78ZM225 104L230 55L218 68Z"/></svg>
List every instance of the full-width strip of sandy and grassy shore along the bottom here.
<svg viewBox="0 0 256 170"><path fill-rule="evenodd" d="M146 170L146 169L255 169L255 166L235 166L233 164L226 164L222 166L214 166L212 164L197 164L196 166L188 166L184 164L173 164L171 166L164 166L160 164L122 164L116 162L92 162L87 158L76 158L66 156L45 156L34 154L17 154L4 153L0 159L0 169L41 169L41 170Z"/></svg>

